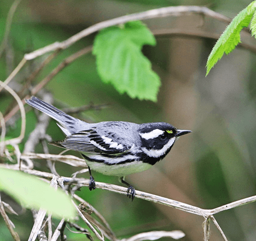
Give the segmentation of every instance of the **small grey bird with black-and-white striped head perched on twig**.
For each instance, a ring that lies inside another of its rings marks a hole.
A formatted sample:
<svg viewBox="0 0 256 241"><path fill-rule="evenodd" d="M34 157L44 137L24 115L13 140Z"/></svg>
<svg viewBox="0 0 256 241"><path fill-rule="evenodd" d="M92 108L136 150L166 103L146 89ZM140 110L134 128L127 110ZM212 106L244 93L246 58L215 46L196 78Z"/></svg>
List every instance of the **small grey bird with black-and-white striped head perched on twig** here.
<svg viewBox="0 0 256 241"><path fill-rule="evenodd" d="M57 120L67 135L63 141L50 144L81 152L90 173L89 189L95 189L91 169L106 175L119 176L128 186L127 196L135 197L135 188L124 177L149 169L171 150L176 139L189 130L177 130L165 122L136 124L125 121L86 123L43 100L32 96L27 104Z"/></svg>

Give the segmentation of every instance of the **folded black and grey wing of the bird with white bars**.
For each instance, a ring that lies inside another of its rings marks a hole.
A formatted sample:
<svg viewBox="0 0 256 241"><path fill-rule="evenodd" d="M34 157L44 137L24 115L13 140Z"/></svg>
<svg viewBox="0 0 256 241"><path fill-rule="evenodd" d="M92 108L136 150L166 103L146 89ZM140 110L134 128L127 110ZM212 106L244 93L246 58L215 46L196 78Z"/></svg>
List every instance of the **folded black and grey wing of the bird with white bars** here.
<svg viewBox="0 0 256 241"><path fill-rule="evenodd" d="M100 135L92 128L68 135L63 141L50 142L57 147L89 153L121 154L128 151L131 146L122 145L113 139Z"/></svg>

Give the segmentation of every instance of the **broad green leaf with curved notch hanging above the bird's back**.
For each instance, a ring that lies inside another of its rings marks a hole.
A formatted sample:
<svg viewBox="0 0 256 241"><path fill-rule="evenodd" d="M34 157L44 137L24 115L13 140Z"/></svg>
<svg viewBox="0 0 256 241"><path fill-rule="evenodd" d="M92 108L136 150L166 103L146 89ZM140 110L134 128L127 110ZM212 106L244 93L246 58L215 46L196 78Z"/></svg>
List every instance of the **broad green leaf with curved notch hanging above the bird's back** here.
<svg viewBox="0 0 256 241"><path fill-rule="evenodd" d="M128 22L101 30L93 54L101 79L112 83L120 94L156 101L161 83L141 52L144 44L155 45L155 37L140 21Z"/></svg>

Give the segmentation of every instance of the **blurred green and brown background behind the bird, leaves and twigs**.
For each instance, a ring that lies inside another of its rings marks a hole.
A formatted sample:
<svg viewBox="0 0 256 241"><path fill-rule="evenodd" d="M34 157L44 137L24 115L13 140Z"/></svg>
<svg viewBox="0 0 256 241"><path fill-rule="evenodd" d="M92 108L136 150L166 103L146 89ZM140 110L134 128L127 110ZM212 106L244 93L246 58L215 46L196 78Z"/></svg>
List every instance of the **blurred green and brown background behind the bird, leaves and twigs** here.
<svg viewBox="0 0 256 241"><path fill-rule="evenodd" d="M0 2L0 40L6 17L13 1ZM5 80L24 54L55 41L66 40L75 33L103 20L171 5L200 5L234 17L249 0L22 0L14 14L6 53L0 58L0 80ZM151 30L204 31L221 34L225 23L199 14L172 16L143 21ZM50 66L37 77L39 82L65 57L93 43L95 35L82 39L59 54ZM55 105L77 107L111 103L102 110L84 113L92 122L124 120L137 123L165 121L177 128L189 129L171 153L152 169L127 176L136 189L164 196L200 208L212 209L228 202L253 196L256 193L256 56L247 49L236 48L224 56L205 78L207 57L215 43L213 39L156 36L155 47L145 46L143 53L152 61L162 86L157 103L131 99L118 94L111 84L100 80L91 53L77 59L51 80L46 89L53 93ZM242 41L255 44L250 35ZM16 86L35 70L46 56L30 61L15 78ZM0 93L1 112L12 98ZM33 130L36 118L27 114L26 138ZM8 137L18 136L20 122L13 124ZM48 134L54 140L64 137L55 121ZM25 143L26 139L24 140ZM20 145L22 150L24 145ZM49 146L50 153L60 148ZM43 152L38 147L37 152ZM79 156L75 152L68 152ZM36 163L42 169L43 161ZM60 175L70 176L77 171L63 163L56 164ZM45 170L45 168L44 168ZM88 174L81 175L88 177ZM96 181L117 184L116 177L94 173ZM148 201L131 202L123 195L96 189L82 188L79 196L90 202L106 218L118 238L150 230L181 229L184 241L203 240L203 218ZM10 215L21 240L28 239L33 225L30 211ZM215 215L229 241L254 241L256 237L256 204L252 203ZM26 225L24 225L26 224ZM82 223L80 223L82 225ZM211 240L222 240L211 225ZM67 231L68 240L85 240L85 236ZM0 218L0 241L12 240ZM165 239L162 239L165 240ZM167 240L167 239L166 239Z"/></svg>

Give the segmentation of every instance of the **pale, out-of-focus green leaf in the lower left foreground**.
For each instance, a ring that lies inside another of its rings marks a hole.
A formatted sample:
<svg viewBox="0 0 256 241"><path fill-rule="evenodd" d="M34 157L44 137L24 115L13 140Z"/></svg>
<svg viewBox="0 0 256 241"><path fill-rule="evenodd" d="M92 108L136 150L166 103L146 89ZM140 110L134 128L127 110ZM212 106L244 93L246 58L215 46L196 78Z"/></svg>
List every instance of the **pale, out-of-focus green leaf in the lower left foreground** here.
<svg viewBox="0 0 256 241"><path fill-rule="evenodd" d="M62 190L20 171L0 168L0 190L29 208L46 209L55 217L73 218L76 210Z"/></svg>

